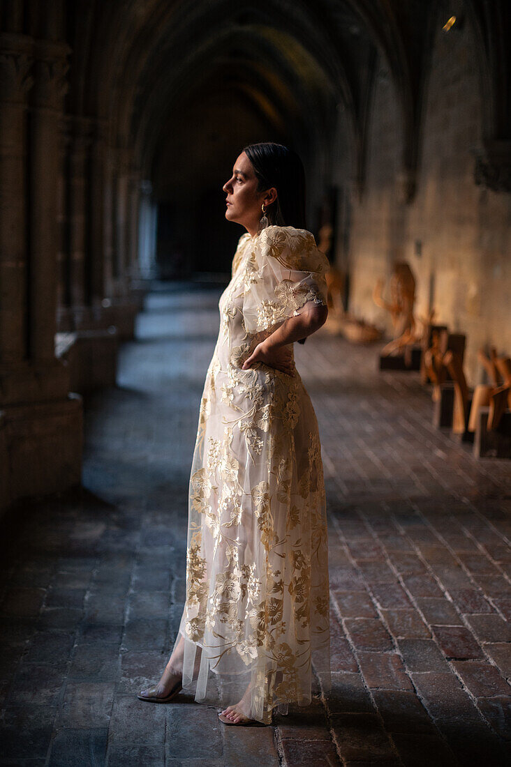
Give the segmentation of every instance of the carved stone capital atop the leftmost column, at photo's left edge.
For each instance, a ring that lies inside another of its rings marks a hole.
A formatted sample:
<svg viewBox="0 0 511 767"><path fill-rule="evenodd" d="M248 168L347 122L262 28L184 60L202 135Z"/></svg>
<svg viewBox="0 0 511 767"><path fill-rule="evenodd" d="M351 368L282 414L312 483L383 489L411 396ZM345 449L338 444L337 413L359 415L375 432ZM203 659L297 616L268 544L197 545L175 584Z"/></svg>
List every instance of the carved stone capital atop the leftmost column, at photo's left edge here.
<svg viewBox="0 0 511 767"><path fill-rule="evenodd" d="M0 101L25 103L34 84L33 44L26 35L0 35Z"/></svg>

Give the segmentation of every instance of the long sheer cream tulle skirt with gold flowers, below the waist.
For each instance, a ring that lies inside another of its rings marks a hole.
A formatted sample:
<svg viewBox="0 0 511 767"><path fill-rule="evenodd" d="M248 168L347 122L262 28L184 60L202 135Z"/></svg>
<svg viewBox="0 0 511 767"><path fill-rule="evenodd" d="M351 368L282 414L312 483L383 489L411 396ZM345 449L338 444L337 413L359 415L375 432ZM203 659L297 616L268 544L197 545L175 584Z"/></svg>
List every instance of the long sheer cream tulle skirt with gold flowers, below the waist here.
<svg viewBox="0 0 511 767"><path fill-rule="evenodd" d="M217 367L214 357L201 400L174 648L184 641L183 687L197 703L240 703L270 723L273 709L310 703L314 671L330 690L320 439L297 372L237 369L234 387Z"/></svg>

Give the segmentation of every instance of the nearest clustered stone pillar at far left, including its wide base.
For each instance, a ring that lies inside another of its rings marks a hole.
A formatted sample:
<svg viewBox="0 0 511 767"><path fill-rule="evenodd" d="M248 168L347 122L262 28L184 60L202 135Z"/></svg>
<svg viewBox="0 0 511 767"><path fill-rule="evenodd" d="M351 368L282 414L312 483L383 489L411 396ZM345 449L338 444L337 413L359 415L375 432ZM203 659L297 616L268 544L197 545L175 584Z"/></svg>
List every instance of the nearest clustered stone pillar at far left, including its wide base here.
<svg viewBox="0 0 511 767"><path fill-rule="evenodd" d="M81 398L68 393L68 369L55 358L59 121L69 51L0 35L0 509L81 477Z"/></svg>

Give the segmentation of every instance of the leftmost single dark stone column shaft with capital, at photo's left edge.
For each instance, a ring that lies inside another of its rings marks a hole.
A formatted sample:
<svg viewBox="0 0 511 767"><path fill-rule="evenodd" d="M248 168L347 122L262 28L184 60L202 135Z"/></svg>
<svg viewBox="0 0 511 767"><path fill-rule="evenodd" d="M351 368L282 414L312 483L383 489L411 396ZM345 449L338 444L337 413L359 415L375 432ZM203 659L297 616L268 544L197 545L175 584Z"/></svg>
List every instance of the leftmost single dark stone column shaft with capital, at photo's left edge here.
<svg viewBox="0 0 511 767"><path fill-rule="evenodd" d="M0 366L26 357L25 112L32 38L0 35Z"/></svg>

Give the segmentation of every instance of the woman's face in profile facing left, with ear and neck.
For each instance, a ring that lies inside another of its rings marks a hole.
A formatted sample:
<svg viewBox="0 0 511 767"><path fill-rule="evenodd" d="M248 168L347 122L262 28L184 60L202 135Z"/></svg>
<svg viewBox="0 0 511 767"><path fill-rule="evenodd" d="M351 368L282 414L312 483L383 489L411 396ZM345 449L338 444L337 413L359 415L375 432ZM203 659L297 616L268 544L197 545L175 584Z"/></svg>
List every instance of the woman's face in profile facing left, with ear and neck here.
<svg viewBox="0 0 511 767"><path fill-rule="evenodd" d="M227 194L225 218L243 225L251 235L257 232L263 203L268 206L277 199L277 189L274 186L257 192L257 183L254 167L242 152L234 163L231 178L222 186Z"/></svg>

